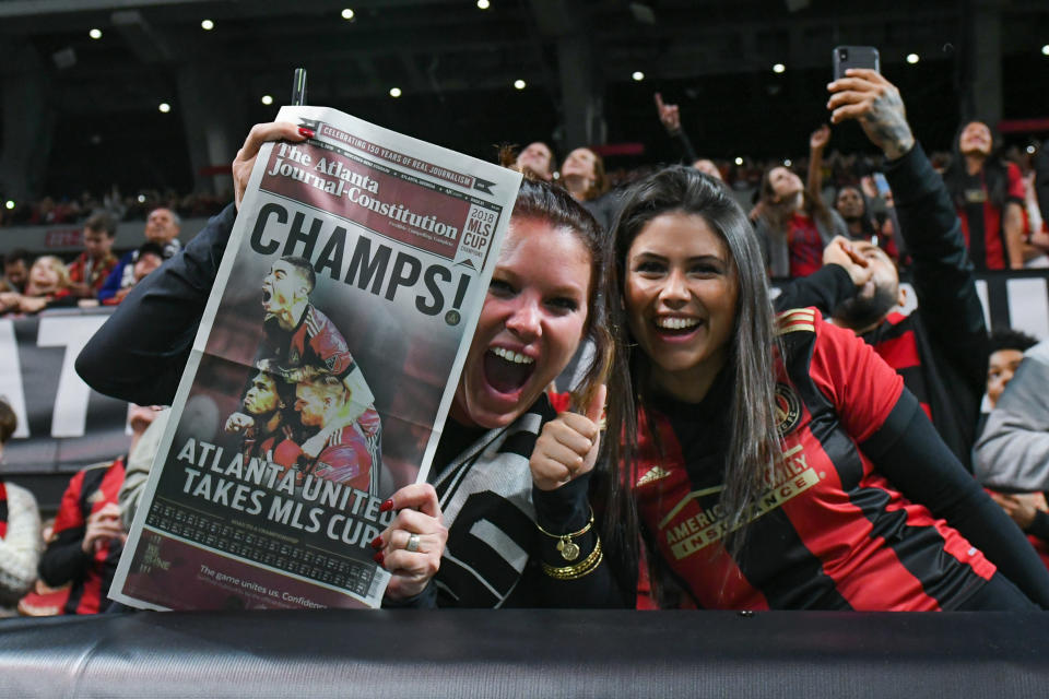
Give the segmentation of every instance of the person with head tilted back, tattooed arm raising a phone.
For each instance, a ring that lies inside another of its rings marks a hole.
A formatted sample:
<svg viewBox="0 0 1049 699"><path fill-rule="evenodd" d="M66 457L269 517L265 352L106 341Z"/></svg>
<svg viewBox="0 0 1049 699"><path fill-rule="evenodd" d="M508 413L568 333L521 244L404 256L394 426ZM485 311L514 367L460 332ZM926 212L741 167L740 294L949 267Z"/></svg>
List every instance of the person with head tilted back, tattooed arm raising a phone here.
<svg viewBox="0 0 1049 699"><path fill-rule="evenodd" d="M962 224L943 180L910 131L896 86L875 71L853 69L828 88L832 122L857 120L886 157L885 176L912 261L918 308L906 316L898 312L906 300L899 271L869 241L851 242L867 259L868 281L850 289L824 285L822 295L808 295L812 285L797 285L793 300L832 309L835 324L872 345L904 377L941 438L971 470L988 336Z"/></svg>

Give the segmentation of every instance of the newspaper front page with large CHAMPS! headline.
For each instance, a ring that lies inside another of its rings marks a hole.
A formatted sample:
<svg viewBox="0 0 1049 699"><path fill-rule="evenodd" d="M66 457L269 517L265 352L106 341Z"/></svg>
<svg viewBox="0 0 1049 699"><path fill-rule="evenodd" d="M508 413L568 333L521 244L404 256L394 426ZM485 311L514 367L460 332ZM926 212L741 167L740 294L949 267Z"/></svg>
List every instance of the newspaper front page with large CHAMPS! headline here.
<svg viewBox="0 0 1049 699"><path fill-rule="evenodd" d="M259 153L110 596L378 606L379 507L426 477L520 175L285 107Z"/></svg>

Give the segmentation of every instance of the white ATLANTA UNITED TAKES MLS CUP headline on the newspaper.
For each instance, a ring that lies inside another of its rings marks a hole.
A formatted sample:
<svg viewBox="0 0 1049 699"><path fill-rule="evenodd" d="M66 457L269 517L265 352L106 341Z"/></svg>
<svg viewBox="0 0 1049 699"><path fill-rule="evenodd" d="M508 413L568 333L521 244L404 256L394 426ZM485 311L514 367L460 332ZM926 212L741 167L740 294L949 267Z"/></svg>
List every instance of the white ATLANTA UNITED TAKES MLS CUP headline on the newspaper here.
<svg viewBox="0 0 1049 699"><path fill-rule="evenodd" d="M186 495L349 546L368 547L393 521L393 512L379 512L382 500L363 490L311 474L296 487L293 469L256 457L246 461L240 452L223 459L222 447L192 437L176 461L184 464Z"/></svg>

